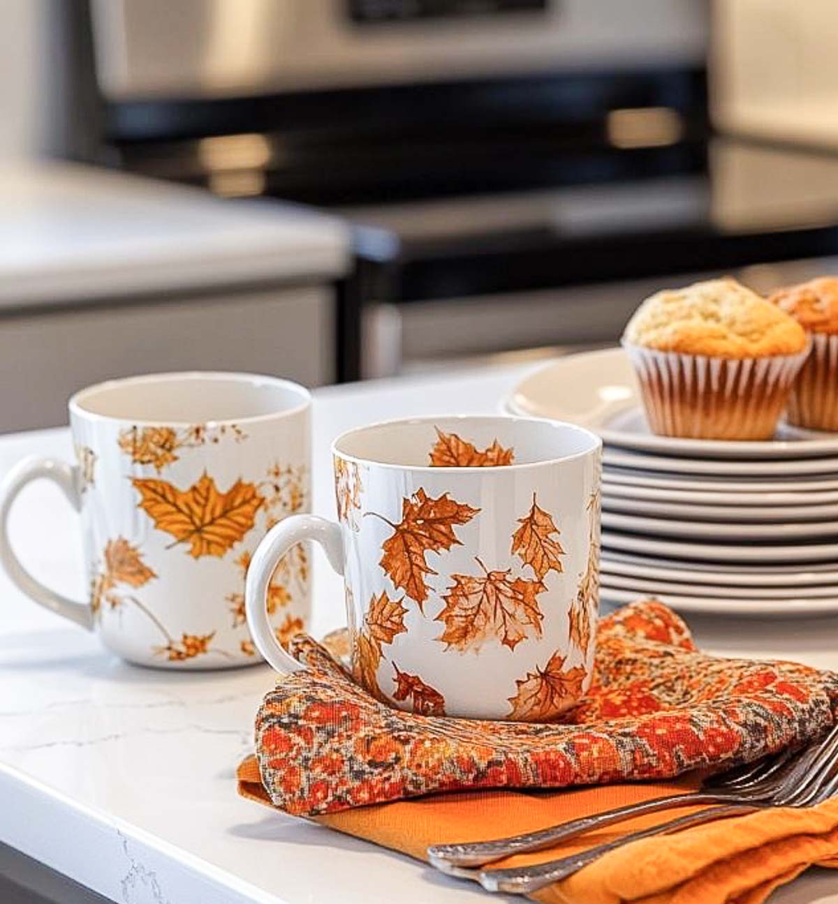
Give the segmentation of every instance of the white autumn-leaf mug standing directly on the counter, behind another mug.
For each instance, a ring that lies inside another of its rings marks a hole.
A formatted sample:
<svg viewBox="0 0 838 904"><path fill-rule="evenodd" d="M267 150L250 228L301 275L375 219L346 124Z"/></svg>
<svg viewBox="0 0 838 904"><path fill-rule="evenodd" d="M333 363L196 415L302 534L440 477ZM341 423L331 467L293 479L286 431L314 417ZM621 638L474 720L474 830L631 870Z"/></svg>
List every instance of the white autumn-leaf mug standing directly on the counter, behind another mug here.
<svg viewBox="0 0 838 904"><path fill-rule="evenodd" d="M78 462L30 458L0 488L0 560L29 597L130 662L228 668L259 661L244 615L250 555L273 524L309 511L310 408L296 383L245 373L165 373L100 383L70 400ZM80 511L89 599L63 597L14 556L15 496L46 477ZM309 613L306 548L268 576L286 641Z"/></svg>

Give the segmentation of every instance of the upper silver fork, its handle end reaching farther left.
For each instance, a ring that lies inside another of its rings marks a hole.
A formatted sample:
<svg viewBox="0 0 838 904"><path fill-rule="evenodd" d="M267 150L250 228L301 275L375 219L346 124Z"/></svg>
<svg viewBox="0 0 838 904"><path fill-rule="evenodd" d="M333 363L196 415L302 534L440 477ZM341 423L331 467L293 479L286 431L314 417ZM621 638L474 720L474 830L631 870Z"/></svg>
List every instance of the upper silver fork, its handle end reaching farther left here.
<svg viewBox="0 0 838 904"><path fill-rule="evenodd" d="M567 823L551 825L535 832L498 838L487 842L435 844L428 848L428 862L438 870L454 874L454 868L485 866L495 860L516 853L541 851L576 835L592 832L650 813L701 804L743 803L769 798L785 781L796 781L797 773L805 772L810 760L817 756L822 745L838 741L838 725L821 741L793 753L782 753L736 767L720 776L712 777L701 791L655 797L639 804L630 804L590 816L582 816ZM459 873L457 873L459 874Z"/></svg>

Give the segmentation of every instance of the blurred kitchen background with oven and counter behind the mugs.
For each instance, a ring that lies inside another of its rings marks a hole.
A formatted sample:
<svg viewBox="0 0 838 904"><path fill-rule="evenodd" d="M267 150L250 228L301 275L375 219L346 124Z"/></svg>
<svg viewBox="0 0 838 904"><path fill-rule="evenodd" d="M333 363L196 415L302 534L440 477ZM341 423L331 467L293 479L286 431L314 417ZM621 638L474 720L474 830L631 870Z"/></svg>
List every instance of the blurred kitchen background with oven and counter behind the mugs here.
<svg viewBox="0 0 838 904"><path fill-rule="evenodd" d="M833 0L0 0L0 431L316 386L838 271Z"/></svg>

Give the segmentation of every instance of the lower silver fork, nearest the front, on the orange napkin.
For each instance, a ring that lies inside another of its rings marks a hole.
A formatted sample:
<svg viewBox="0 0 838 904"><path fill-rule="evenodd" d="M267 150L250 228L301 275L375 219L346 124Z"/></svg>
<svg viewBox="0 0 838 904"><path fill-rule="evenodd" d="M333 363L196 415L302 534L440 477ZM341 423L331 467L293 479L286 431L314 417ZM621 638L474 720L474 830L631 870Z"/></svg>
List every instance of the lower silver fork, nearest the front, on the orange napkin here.
<svg viewBox="0 0 838 904"><path fill-rule="evenodd" d="M771 799L711 807L700 813L680 816L668 823L625 835L614 842L601 844L596 848L572 854L570 857L563 857L560 860L502 870L466 870L463 872L467 873L466 878L477 879L487 891L529 894L551 885L553 882L566 879L582 867L587 866L588 863L598 860L603 854L643 838L672 834L693 825L754 813L769 807L807 807L821 804L838 792L838 742L835 738L836 731L833 730L829 738L817 746L817 756L809 758L807 770L801 774L800 770L795 769L793 773L789 774L782 790L779 790ZM476 876L473 875L475 872ZM459 873L457 872L457 874Z"/></svg>

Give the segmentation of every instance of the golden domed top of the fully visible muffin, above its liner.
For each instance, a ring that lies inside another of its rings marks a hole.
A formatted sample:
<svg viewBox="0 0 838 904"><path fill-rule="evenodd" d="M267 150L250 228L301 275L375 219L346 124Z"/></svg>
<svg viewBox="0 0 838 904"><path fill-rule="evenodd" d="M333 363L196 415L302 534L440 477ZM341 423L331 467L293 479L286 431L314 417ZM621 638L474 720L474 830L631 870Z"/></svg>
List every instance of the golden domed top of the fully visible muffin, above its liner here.
<svg viewBox="0 0 838 904"><path fill-rule="evenodd" d="M804 351L793 317L735 279L708 279L646 298L624 340L659 352L718 358L762 358Z"/></svg>

